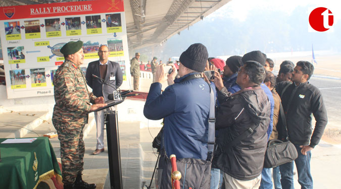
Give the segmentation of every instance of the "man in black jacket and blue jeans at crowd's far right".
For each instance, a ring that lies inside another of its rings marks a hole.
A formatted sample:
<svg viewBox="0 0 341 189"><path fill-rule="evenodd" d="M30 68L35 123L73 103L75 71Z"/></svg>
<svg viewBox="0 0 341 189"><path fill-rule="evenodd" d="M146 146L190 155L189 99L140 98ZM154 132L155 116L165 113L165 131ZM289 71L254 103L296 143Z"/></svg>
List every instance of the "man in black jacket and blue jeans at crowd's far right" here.
<svg viewBox="0 0 341 189"><path fill-rule="evenodd" d="M319 143L327 124L327 111L322 94L308 82L313 72L314 66L310 62L299 61L291 78L293 83L281 82L276 88L278 94L282 94L289 141L295 145L299 154L295 164L302 188L313 188L310 174L311 150ZM311 114L316 120L314 132ZM280 165L279 168L282 188L294 188L294 162Z"/></svg>

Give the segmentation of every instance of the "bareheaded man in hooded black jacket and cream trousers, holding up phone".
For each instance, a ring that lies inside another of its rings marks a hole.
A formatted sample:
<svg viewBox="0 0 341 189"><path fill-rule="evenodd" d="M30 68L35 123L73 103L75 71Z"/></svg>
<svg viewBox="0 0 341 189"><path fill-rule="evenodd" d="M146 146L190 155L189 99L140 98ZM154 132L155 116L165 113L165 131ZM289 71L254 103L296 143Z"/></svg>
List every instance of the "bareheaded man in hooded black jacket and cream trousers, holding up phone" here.
<svg viewBox="0 0 341 189"><path fill-rule="evenodd" d="M215 77L220 79L217 72ZM221 106L216 115L219 132L212 166L224 172L226 188L260 186L270 123L270 102L260 87L264 78L261 64L246 61L236 80L241 90L217 92Z"/></svg>

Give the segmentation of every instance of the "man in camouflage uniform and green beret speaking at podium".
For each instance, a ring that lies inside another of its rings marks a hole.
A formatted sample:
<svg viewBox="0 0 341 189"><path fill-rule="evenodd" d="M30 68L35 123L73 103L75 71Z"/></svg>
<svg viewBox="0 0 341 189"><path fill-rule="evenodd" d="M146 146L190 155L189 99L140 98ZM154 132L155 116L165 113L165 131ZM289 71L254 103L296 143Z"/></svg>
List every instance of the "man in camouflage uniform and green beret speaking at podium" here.
<svg viewBox="0 0 341 189"><path fill-rule="evenodd" d="M96 188L82 180L83 128L89 111L105 106L104 98L89 93L79 68L83 64L82 41L70 41L60 50L65 61L53 79L55 107L52 122L61 146L64 188ZM92 103L92 105L90 104Z"/></svg>

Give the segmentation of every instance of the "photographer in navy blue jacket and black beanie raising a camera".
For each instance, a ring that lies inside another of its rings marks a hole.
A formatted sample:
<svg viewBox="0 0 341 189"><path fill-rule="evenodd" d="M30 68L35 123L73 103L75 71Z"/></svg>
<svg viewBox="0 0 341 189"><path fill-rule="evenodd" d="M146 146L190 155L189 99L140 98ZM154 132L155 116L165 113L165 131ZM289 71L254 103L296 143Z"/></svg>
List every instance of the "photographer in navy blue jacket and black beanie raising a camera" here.
<svg viewBox="0 0 341 189"><path fill-rule="evenodd" d="M182 52L179 76L173 66L168 75L168 87L161 93L166 80L163 66L156 71L143 113L148 119L164 118L164 134L159 161L159 188L171 188L169 156L176 155L181 172L181 188L209 188L211 162L208 159L208 119L210 85L201 77L208 52L201 43L192 44ZM175 80L174 80L175 79ZM196 167L193 169L193 167Z"/></svg>

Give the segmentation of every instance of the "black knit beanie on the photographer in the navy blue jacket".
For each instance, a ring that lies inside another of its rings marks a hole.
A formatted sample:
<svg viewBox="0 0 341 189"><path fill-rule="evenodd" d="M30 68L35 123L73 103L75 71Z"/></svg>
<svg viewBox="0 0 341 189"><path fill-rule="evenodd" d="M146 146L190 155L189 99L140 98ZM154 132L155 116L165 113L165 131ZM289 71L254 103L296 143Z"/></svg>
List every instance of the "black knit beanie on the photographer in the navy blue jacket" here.
<svg viewBox="0 0 341 189"><path fill-rule="evenodd" d="M182 52L179 60L186 68L197 72L204 72L207 58L208 52L206 46L201 43L194 43Z"/></svg>

